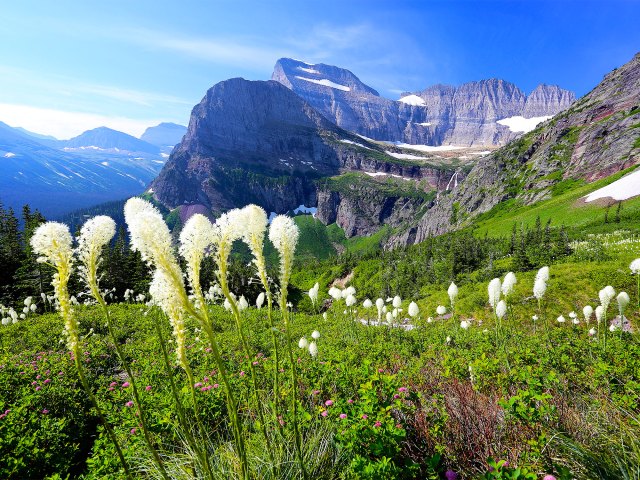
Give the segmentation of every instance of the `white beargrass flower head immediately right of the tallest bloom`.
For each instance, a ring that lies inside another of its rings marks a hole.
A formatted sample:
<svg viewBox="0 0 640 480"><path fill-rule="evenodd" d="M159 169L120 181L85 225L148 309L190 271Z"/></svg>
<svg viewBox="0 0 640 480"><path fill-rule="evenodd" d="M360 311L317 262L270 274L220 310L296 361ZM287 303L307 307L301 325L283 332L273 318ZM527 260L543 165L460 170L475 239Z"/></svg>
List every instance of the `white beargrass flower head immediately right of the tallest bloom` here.
<svg viewBox="0 0 640 480"><path fill-rule="evenodd" d="M214 228L207 217L200 213L192 215L180 232L179 252L187 265L187 278L199 308L204 308L204 297L200 287L202 261L209 253Z"/></svg>

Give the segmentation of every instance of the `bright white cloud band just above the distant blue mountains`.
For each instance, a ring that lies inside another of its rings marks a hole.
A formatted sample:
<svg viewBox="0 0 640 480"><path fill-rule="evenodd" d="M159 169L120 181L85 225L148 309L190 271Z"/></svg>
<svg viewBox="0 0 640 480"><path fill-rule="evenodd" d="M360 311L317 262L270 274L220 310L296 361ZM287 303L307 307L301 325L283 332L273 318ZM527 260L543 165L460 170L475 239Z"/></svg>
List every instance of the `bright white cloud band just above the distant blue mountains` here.
<svg viewBox="0 0 640 480"><path fill-rule="evenodd" d="M109 127L135 137L142 135L147 127L166 119L137 120L95 113L68 112L27 105L0 103L0 120L32 132L67 139L96 127Z"/></svg>

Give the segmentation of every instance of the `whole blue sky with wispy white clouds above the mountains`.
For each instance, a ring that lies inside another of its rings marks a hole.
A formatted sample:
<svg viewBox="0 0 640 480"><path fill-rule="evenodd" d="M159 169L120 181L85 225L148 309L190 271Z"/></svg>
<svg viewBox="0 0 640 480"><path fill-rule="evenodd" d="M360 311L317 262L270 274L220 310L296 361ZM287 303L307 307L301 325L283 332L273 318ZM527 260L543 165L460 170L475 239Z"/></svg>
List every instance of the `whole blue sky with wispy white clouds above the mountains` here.
<svg viewBox="0 0 640 480"><path fill-rule="evenodd" d="M70 138L187 125L215 83L278 58L382 96L502 78L582 96L640 51L640 0L21 0L0 17L0 121Z"/></svg>

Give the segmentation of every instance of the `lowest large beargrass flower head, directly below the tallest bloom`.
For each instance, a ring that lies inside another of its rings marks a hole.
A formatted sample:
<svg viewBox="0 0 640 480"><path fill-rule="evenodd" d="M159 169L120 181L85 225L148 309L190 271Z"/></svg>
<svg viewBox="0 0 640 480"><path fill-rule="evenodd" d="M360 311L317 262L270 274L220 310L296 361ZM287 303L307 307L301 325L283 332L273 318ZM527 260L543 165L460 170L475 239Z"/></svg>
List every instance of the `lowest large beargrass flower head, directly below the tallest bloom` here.
<svg viewBox="0 0 640 480"><path fill-rule="evenodd" d="M154 305L157 305L169 318L169 323L173 328L173 337L176 342L176 355L180 366L188 370L186 353L186 329L184 325L185 312L180 302L176 301L179 293L176 285L167 272L157 269L153 273L153 279L149 285L149 294Z"/></svg>

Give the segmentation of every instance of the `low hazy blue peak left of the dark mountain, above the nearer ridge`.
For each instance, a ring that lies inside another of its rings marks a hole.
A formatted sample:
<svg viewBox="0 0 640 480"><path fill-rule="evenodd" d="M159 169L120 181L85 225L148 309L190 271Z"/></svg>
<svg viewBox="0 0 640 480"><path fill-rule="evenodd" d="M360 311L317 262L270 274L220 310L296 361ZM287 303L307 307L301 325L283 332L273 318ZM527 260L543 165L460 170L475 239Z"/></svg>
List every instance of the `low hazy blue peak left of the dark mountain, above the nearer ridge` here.
<svg viewBox="0 0 640 480"><path fill-rule="evenodd" d="M98 127L93 130L73 137L69 140L62 140L58 143L59 148L66 150L110 150L113 152L125 151L132 153L147 153L159 155L160 148L136 137L128 135L107 127Z"/></svg>

